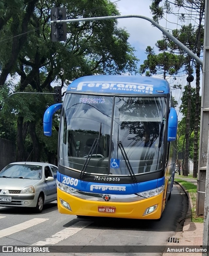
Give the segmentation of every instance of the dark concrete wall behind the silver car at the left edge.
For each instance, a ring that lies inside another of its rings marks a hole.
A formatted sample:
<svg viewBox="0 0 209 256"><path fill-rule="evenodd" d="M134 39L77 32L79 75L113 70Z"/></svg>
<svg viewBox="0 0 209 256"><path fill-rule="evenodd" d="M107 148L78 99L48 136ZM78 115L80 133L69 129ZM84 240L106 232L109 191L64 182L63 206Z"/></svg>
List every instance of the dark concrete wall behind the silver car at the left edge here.
<svg viewBox="0 0 209 256"><path fill-rule="evenodd" d="M16 145L13 141L0 138L0 171L15 162Z"/></svg>

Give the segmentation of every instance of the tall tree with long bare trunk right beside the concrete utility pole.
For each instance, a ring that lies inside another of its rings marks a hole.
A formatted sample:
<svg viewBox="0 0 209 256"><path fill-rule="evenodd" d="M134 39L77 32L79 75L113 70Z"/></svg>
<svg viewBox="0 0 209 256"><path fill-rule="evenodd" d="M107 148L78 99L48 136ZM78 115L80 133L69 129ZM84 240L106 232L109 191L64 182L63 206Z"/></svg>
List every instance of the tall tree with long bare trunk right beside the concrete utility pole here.
<svg viewBox="0 0 209 256"><path fill-rule="evenodd" d="M151 12L153 14L153 19L156 22L159 22L160 19L163 18L164 14L172 13L172 6L179 9L182 8L186 12L189 12L191 19L192 16L196 16L198 21L198 28L192 32L193 42L192 44L189 43L191 41L191 29L187 30L185 26L185 31L182 33L181 42L183 42L188 48L190 48L193 52L197 54L198 57L201 55L201 51L203 48L203 26L202 20L204 18L204 9L205 9L205 1L204 0L197 0L197 1L190 1L190 0L175 0L172 2L170 1L162 1L162 0L153 0L150 6ZM184 11L181 12L179 19L184 22L186 17ZM194 15L193 15L194 13ZM182 31L183 32L183 31ZM190 35L189 35L190 34ZM175 34L174 34L175 36ZM188 38L188 42L185 40ZM194 60L193 60L194 61ZM194 170L193 170L193 177L197 177L198 172L198 138L199 138L199 116L200 116L200 64L194 61L194 66L196 70L196 106L195 106L195 130L194 130Z"/></svg>

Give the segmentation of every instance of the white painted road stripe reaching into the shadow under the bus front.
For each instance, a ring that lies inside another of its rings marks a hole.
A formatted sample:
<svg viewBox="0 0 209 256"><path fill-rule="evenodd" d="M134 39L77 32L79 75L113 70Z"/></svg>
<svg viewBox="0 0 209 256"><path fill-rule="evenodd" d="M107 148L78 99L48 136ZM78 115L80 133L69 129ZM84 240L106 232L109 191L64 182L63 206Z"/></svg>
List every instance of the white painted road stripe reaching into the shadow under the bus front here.
<svg viewBox="0 0 209 256"><path fill-rule="evenodd" d="M65 228L59 232L57 232L56 234L52 235L49 238L46 238L45 241L39 241L35 244L32 244L31 246L44 246L44 245L54 245L59 243L60 241L74 235L75 233L77 233L78 231L86 228L88 225L90 225L93 222L89 222L89 221L78 221L77 223L75 223L74 225Z"/></svg>

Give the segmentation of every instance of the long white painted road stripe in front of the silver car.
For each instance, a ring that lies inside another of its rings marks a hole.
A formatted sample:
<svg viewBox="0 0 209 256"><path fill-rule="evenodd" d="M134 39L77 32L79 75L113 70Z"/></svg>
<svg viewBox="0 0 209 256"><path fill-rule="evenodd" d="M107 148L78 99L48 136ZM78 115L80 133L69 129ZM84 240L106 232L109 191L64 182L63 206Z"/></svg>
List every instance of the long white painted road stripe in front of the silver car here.
<svg viewBox="0 0 209 256"><path fill-rule="evenodd" d="M34 218L31 220L25 221L23 223L20 223L18 225L12 226L10 228L0 230L0 238L14 234L16 232L22 231L27 228L33 227L33 226L38 225L41 222L44 222L46 220L48 220L48 219Z"/></svg>

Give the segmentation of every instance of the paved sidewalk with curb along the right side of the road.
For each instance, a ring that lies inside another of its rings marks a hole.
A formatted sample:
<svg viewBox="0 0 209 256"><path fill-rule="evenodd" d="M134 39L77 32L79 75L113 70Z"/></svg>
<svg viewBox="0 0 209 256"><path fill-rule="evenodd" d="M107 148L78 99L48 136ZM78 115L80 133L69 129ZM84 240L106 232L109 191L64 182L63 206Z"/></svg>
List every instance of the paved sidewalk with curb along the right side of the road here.
<svg viewBox="0 0 209 256"><path fill-rule="evenodd" d="M197 185L196 179L190 179L190 178L179 178L178 175L176 175L176 178L183 179L185 181L191 182L194 185ZM175 181L176 182L176 181ZM183 232L176 233L176 238L179 239L179 243L168 243L167 246L200 246L202 245L202 236L203 236L203 223L197 223L197 222L191 222L191 216L192 216L192 199L191 195L188 193L188 191L178 182L176 182L181 188L185 191L186 196L188 197L189 202L189 208L187 211ZM202 256L202 252L194 253L194 252L167 252L163 253L163 256Z"/></svg>

